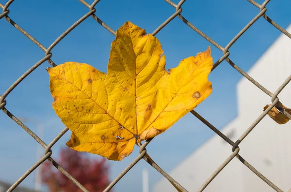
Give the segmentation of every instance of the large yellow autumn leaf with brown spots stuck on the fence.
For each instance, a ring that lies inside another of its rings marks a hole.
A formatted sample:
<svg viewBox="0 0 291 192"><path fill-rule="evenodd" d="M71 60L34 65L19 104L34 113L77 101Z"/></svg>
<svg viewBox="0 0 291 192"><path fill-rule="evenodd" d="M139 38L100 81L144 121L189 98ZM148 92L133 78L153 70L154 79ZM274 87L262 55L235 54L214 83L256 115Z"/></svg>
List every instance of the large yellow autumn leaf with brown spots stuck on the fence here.
<svg viewBox="0 0 291 192"><path fill-rule="evenodd" d="M210 95L210 47L170 73L165 62L158 39L126 22L111 44L107 74L77 62L48 68L53 109L73 132L67 146L120 161Z"/></svg>

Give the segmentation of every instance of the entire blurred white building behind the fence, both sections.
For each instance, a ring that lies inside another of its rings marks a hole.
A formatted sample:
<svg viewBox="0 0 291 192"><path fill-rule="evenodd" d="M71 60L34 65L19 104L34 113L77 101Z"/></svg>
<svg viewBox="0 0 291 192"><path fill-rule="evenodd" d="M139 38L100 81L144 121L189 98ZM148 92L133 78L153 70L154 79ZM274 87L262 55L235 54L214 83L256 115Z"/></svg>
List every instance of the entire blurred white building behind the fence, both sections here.
<svg viewBox="0 0 291 192"><path fill-rule="evenodd" d="M291 31L291 25L287 29ZM248 71L266 89L276 89L291 75L291 39L282 34ZM242 78L237 85L238 117L222 129L236 141L259 117L271 98ZM291 83L278 96L291 107ZM284 192L291 189L291 122L277 124L266 116L240 144L240 155ZM175 167L170 175L189 192L197 191L232 153L232 147L214 135ZM236 157L206 187L205 192L274 192ZM162 178L154 192L177 192Z"/></svg>

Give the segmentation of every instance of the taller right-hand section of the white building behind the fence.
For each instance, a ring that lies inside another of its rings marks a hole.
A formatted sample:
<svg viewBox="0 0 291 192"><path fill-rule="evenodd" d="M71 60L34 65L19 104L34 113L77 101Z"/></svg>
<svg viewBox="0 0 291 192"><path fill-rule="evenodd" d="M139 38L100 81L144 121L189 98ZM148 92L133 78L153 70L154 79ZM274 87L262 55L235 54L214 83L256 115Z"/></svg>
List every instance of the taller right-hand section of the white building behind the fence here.
<svg viewBox="0 0 291 192"><path fill-rule="evenodd" d="M291 26L287 29L291 31ZM281 35L262 55L248 72L256 81L271 92L275 92L291 75L291 40ZM242 79L237 87L238 115L242 121L242 130L246 130L263 112L263 106L271 104L271 97ZM278 95L279 100L291 107L291 84ZM240 154L265 177L270 179L281 190L291 189L291 124L277 124L266 117L242 141ZM249 169L244 168L243 186L248 191L273 192L266 183L260 180Z"/></svg>

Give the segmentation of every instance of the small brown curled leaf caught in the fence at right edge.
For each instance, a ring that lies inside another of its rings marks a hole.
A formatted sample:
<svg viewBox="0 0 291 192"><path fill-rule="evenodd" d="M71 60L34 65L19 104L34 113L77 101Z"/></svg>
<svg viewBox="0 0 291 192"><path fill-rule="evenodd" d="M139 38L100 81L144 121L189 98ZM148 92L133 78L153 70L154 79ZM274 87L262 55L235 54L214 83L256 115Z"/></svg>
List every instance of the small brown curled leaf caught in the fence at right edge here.
<svg viewBox="0 0 291 192"><path fill-rule="evenodd" d="M279 108L281 108L281 109L284 109L287 113L291 114L291 109L285 107L281 102L278 102L276 104L276 106L279 107ZM264 107L264 110L263 111L265 111L268 107L269 107L269 105L267 104ZM285 124L285 123L287 123L290 120L290 118L286 117L284 114L282 114L280 111L278 111L276 109L276 107L273 107L271 109L271 111L269 111L268 115L270 116L270 118L272 118L273 120L275 120L278 124Z"/></svg>

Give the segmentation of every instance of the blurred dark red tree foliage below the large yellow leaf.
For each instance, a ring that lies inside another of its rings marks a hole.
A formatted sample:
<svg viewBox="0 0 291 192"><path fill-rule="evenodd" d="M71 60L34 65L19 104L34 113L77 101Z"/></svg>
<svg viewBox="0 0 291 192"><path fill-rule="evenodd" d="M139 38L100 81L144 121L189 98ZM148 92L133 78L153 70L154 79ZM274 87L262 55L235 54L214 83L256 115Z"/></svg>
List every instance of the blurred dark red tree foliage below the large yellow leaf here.
<svg viewBox="0 0 291 192"><path fill-rule="evenodd" d="M106 159L90 160L87 153L63 148L58 162L71 176L77 179L89 192L102 192L109 184ZM50 162L42 165L43 183L50 192L82 192L70 179Z"/></svg>

